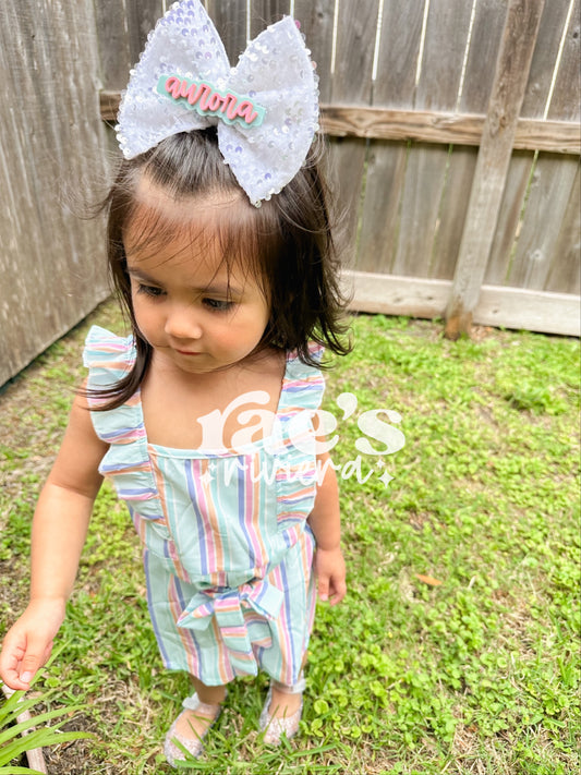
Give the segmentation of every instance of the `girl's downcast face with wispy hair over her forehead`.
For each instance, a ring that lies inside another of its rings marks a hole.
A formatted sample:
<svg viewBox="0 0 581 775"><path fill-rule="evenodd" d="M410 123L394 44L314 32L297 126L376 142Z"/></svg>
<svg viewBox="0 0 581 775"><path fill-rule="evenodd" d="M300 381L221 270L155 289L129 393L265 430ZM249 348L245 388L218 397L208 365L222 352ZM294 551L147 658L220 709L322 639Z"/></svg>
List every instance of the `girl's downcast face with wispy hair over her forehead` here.
<svg viewBox="0 0 581 775"><path fill-rule="evenodd" d="M204 203L175 201L142 177L137 197L140 208L123 242L135 320L155 361L186 374L207 374L244 361L267 326L268 300L240 262L227 266L219 240L208 237L213 221L229 218L240 207L238 193ZM198 240L192 228L183 228L192 214L196 226L204 227ZM142 216L152 215L170 237L143 245ZM168 230L171 223L175 228Z"/></svg>

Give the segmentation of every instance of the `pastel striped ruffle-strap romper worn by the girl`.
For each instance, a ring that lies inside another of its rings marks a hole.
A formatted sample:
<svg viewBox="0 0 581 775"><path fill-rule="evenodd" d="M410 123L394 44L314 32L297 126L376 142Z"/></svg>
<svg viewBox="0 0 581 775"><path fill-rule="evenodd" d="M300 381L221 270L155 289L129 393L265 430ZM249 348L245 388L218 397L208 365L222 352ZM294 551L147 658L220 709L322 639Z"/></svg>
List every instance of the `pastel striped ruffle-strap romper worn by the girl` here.
<svg viewBox="0 0 581 775"><path fill-rule="evenodd" d="M88 387L114 384L134 359L132 337L93 327ZM306 518L317 472L307 410L323 390L319 370L289 354L271 436L235 449L150 444L140 390L118 409L92 412L110 445L99 471L143 542L149 614L169 669L208 686L258 669L286 685L299 679L315 608Z"/></svg>

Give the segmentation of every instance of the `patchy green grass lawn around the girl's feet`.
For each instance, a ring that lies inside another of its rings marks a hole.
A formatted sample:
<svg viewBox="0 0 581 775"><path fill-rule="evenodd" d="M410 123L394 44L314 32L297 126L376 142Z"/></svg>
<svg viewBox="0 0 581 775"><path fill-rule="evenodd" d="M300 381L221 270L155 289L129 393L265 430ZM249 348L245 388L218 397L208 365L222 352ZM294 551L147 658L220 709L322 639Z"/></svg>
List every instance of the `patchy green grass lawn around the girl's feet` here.
<svg viewBox="0 0 581 775"><path fill-rule="evenodd" d="M120 330L111 306L90 322ZM82 376L86 329L0 396L0 573L11 581L2 628L25 604L29 521ZM353 332L325 399L339 420L349 594L318 608L301 735L281 751L264 747L266 679L244 679L193 770L577 772L579 342L489 329L450 342L438 323L382 316L354 318ZM342 392L358 398L344 421ZM361 453L361 483L358 419L374 409L401 415L407 443L396 455ZM60 642L45 677L58 690L49 710L90 704L75 728L96 738L52 751L51 774L171 772L160 747L187 679L161 667L140 547L108 487Z"/></svg>

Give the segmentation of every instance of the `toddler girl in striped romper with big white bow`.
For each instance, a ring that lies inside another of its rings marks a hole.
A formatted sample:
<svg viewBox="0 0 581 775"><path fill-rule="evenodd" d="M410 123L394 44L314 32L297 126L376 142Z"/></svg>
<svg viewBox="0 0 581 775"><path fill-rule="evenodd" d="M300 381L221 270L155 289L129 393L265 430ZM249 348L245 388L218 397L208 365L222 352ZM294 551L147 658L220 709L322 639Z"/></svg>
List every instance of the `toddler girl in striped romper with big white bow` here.
<svg viewBox="0 0 581 775"><path fill-rule="evenodd" d="M120 108L108 253L133 332L88 335L0 675L27 689L48 658L111 477L143 542L164 664L195 689L167 735L171 764L199 755L226 686L259 669L265 740L294 735L315 577L331 605L346 592L337 481L313 427L323 346L347 351L316 119L294 22L231 70L197 0L158 23Z"/></svg>

